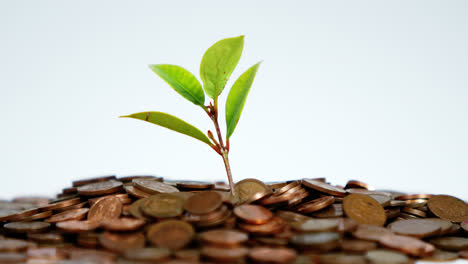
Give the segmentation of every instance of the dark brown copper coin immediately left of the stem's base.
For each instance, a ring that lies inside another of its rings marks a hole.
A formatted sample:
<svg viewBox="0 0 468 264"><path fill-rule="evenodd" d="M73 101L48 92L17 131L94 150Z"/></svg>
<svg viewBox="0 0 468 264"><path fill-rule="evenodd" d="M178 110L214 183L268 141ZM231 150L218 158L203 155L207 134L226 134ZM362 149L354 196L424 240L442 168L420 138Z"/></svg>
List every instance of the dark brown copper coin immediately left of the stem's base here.
<svg viewBox="0 0 468 264"><path fill-rule="evenodd" d="M222 198L218 192L200 192L190 196L185 201L184 208L192 214L207 214L218 209L223 204Z"/></svg>

